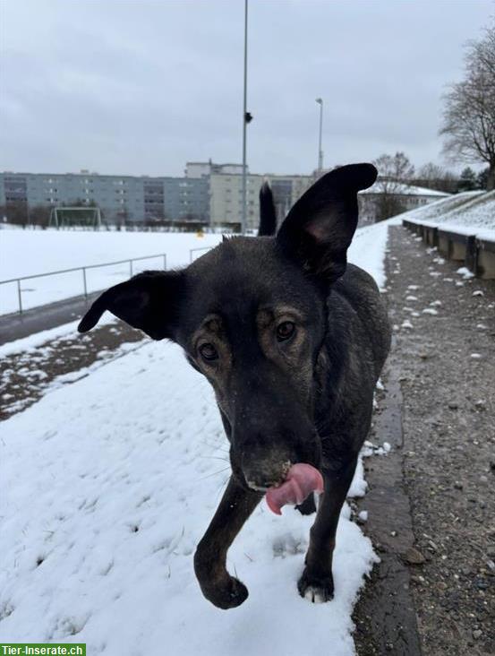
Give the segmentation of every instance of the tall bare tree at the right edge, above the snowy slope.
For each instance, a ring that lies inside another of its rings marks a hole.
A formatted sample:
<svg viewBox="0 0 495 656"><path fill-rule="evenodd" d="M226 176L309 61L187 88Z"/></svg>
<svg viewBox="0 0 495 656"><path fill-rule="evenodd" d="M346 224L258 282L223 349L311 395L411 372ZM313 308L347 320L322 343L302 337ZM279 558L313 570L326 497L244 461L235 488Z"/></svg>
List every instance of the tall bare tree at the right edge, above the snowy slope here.
<svg viewBox="0 0 495 656"><path fill-rule="evenodd" d="M488 164L487 190L495 189L495 23L483 39L471 41L465 79L450 86L440 134L450 160Z"/></svg>

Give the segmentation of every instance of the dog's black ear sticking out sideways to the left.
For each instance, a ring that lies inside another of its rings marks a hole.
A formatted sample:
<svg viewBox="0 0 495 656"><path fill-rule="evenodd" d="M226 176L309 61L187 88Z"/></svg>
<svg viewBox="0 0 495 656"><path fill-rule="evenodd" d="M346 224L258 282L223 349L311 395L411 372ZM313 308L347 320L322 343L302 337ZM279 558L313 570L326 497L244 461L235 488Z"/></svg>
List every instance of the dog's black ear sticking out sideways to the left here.
<svg viewBox="0 0 495 656"><path fill-rule="evenodd" d="M145 271L107 289L82 317L78 331L90 331L108 310L154 340L172 339L183 296L183 277L183 272Z"/></svg>

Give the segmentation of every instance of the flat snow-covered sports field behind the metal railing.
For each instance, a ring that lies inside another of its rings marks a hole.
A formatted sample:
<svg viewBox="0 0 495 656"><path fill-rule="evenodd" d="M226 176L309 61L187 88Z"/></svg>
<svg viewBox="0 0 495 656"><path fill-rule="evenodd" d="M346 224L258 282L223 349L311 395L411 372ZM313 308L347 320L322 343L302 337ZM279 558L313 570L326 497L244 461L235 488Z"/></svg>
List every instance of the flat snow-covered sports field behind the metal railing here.
<svg viewBox="0 0 495 656"><path fill-rule="evenodd" d="M191 249L216 246L220 235L165 232L87 232L76 230L0 230L0 281L17 277L116 262L125 258L166 254L168 268L190 263ZM359 250L359 240L355 246ZM351 249L351 255L354 246ZM380 253L380 249L377 249ZM192 254L193 257L201 252ZM361 258L361 253L360 257ZM376 263L372 263L373 268ZM133 263L133 272L163 269L163 257ZM99 291L129 278L129 264L116 264L86 272L88 291ZM79 296L83 292L81 271L21 282L24 309ZM0 285L0 315L18 309L17 284Z"/></svg>

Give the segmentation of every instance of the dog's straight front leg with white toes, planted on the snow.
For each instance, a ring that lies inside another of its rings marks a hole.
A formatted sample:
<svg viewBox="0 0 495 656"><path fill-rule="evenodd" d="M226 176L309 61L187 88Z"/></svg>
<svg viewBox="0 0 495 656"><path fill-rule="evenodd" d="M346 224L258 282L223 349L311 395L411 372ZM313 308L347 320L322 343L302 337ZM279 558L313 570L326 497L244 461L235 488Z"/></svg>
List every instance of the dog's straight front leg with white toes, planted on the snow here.
<svg viewBox="0 0 495 656"><path fill-rule="evenodd" d="M338 517L354 476L357 459L353 458L338 470L323 470L325 491L320 499L318 514L310 532L306 566L297 583L302 597L314 602L333 597L332 560Z"/></svg>

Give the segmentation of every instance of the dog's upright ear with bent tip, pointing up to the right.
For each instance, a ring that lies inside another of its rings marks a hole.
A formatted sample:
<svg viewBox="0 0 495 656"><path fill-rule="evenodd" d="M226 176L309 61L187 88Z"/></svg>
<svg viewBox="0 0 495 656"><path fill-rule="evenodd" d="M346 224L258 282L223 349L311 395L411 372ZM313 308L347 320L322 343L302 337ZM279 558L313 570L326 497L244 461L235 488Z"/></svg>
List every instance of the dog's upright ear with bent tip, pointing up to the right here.
<svg viewBox="0 0 495 656"><path fill-rule="evenodd" d="M320 177L294 204L277 234L286 255L328 282L345 271L357 227L357 192L377 177L372 164L350 164Z"/></svg>

